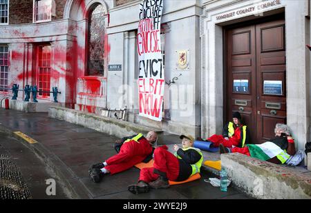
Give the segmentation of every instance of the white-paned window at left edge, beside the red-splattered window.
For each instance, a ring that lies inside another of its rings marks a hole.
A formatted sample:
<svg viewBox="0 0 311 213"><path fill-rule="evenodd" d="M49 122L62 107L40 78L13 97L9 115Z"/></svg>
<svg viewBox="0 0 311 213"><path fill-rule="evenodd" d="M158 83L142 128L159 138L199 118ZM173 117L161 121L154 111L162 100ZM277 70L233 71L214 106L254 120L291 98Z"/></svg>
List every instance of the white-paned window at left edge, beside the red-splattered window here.
<svg viewBox="0 0 311 213"><path fill-rule="evenodd" d="M8 45L0 44L0 92L8 92L3 88L8 88Z"/></svg>

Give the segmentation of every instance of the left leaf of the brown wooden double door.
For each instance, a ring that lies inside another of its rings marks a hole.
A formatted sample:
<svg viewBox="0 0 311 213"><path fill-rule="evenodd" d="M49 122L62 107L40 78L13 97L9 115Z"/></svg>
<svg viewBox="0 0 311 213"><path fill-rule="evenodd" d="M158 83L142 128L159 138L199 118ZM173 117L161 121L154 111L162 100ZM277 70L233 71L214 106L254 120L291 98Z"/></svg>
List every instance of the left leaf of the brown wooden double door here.
<svg viewBox="0 0 311 213"><path fill-rule="evenodd" d="M250 129L256 128L254 120L256 119L255 36L255 26L237 28L227 32L226 120L232 121L232 112L238 111ZM243 86L240 81L243 81L247 87ZM252 138L254 136L254 134L251 135Z"/></svg>

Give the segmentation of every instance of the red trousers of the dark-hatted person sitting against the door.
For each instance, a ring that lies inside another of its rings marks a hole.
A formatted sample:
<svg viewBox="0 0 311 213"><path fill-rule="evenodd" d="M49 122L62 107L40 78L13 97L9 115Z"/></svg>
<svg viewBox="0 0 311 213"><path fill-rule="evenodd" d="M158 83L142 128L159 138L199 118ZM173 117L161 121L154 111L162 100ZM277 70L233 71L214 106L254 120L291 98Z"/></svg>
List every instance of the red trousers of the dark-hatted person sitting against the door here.
<svg viewBox="0 0 311 213"><path fill-rule="evenodd" d="M218 147L220 143L222 143L226 148L232 148L232 145L238 146L241 141L241 130L240 128L236 128L234 130L234 135L229 137L227 141L222 135L214 134L210 136L207 141L211 141L214 143L214 147Z"/></svg>

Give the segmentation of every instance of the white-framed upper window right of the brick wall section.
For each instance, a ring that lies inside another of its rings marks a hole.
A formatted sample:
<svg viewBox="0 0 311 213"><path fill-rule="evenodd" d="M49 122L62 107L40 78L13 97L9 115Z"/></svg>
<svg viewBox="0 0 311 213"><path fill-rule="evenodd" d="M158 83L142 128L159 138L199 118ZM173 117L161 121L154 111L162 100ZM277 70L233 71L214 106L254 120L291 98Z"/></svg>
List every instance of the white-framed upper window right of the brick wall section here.
<svg viewBox="0 0 311 213"><path fill-rule="evenodd" d="M53 16L55 16L54 0L34 0L33 22L39 23L44 21L51 21Z"/></svg>

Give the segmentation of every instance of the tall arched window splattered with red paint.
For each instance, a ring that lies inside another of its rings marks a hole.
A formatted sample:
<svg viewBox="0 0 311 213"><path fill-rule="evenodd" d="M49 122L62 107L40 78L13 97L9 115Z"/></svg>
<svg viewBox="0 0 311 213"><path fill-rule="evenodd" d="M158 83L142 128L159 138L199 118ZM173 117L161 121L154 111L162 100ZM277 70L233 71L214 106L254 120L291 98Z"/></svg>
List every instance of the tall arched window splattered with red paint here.
<svg viewBox="0 0 311 213"><path fill-rule="evenodd" d="M97 5L88 19L88 75L104 76L104 6Z"/></svg>

